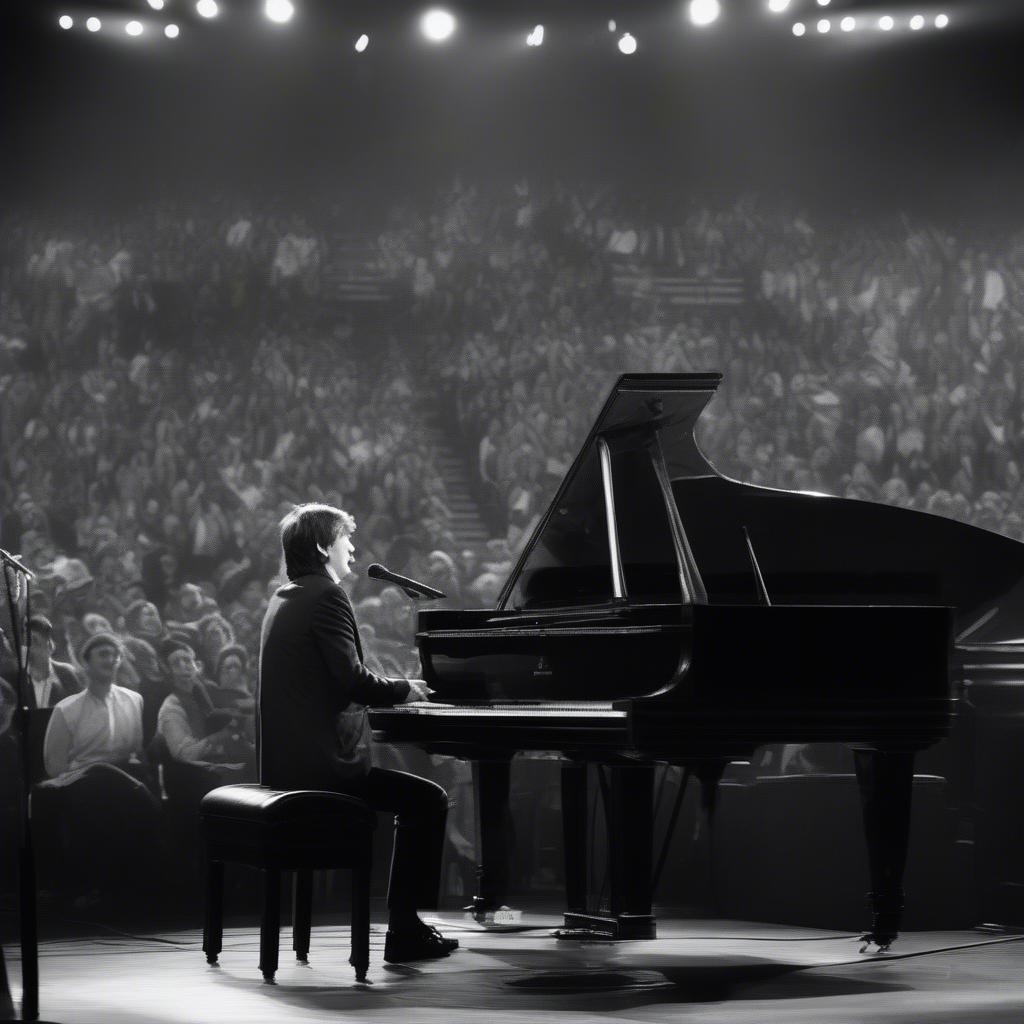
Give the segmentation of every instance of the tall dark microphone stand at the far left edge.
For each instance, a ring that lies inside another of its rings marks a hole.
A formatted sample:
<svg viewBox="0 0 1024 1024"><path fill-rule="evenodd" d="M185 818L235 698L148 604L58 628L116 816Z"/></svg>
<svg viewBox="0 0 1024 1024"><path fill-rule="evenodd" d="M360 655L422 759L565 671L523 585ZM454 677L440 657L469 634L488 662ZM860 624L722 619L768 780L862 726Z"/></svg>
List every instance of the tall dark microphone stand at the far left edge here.
<svg viewBox="0 0 1024 1024"><path fill-rule="evenodd" d="M29 806L29 796L31 793L32 777L32 752L29 746L29 652L32 644L32 632L28 629L29 618L32 616L32 594L30 581L33 579L32 571L27 568L13 555L8 554L0 548L0 563L3 564L4 587L7 592L7 607L10 611L11 642L14 645L14 654L17 658L17 720L18 749L22 756L22 801L20 817L22 828L17 851L18 866L18 933L22 945L22 1020L39 1020L39 929L36 905L36 855L32 842L32 813ZM15 573L13 582L10 573ZM25 581L25 623L26 623L26 643L22 644L22 629L17 615L17 592L20 590L20 581ZM0 981L4 982L0 988L0 1007L2 1007L4 995L6 1002L13 1011L13 1004L10 1000L10 991L6 989L5 972L2 972L2 962L0 962L0 973L4 974ZM16 1017L9 1018L17 1020Z"/></svg>

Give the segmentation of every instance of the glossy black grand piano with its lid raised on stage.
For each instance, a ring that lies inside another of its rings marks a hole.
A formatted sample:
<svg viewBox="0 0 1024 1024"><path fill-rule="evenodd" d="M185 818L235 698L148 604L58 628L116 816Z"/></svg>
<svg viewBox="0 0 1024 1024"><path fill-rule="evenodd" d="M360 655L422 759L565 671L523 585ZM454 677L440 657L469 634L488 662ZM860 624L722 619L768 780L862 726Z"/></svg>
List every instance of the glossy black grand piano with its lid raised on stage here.
<svg viewBox="0 0 1024 1024"><path fill-rule="evenodd" d="M753 486L694 438L719 374L611 389L495 608L423 609L430 703L372 709L376 738L473 762L483 912L506 901L509 770L562 759L565 926L654 937L652 793L681 765L711 817L726 765L766 743L854 752L870 871L865 939L896 938L913 762L945 737L958 651L1024 633L1024 545L922 512ZM954 645L954 640L957 644ZM610 905L587 905L587 766ZM829 870L823 863L822 871Z"/></svg>

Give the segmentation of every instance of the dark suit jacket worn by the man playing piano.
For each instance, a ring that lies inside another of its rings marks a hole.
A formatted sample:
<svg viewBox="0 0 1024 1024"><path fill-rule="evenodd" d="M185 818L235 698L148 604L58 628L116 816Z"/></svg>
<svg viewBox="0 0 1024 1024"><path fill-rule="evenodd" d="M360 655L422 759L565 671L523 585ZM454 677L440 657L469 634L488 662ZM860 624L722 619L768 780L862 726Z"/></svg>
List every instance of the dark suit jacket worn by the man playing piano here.
<svg viewBox="0 0 1024 1024"><path fill-rule="evenodd" d="M299 577L270 598L260 634L257 684L259 780L280 790L344 788L336 718L349 703L390 707L404 680L362 664L351 602L326 572Z"/></svg>

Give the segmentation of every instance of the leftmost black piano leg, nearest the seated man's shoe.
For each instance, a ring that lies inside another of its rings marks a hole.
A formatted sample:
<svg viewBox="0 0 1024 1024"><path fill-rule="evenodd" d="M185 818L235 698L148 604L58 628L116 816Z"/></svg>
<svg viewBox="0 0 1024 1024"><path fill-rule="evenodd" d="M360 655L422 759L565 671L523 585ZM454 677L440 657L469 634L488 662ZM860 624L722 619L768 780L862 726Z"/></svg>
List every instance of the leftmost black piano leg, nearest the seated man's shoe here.
<svg viewBox="0 0 1024 1024"><path fill-rule="evenodd" d="M476 793L476 895L468 911L478 918L508 903L512 859L512 814L509 790L511 757L473 762Z"/></svg>

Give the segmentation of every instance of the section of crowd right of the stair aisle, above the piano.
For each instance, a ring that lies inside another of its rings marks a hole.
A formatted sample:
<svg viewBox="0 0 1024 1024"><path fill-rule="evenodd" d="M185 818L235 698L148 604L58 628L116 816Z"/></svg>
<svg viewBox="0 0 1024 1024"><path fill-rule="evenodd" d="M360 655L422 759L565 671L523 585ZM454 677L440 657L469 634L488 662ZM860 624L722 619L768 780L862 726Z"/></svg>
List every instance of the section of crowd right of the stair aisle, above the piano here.
<svg viewBox="0 0 1024 1024"><path fill-rule="evenodd" d="M614 374L720 370L698 437L755 483L913 507L1024 539L1024 233L906 216L816 223L750 198L644 217L612 197L457 185L386 248L485 487L513 524L543 510ZM624 301L614 261L739 275L746 309Z"/></svg>

